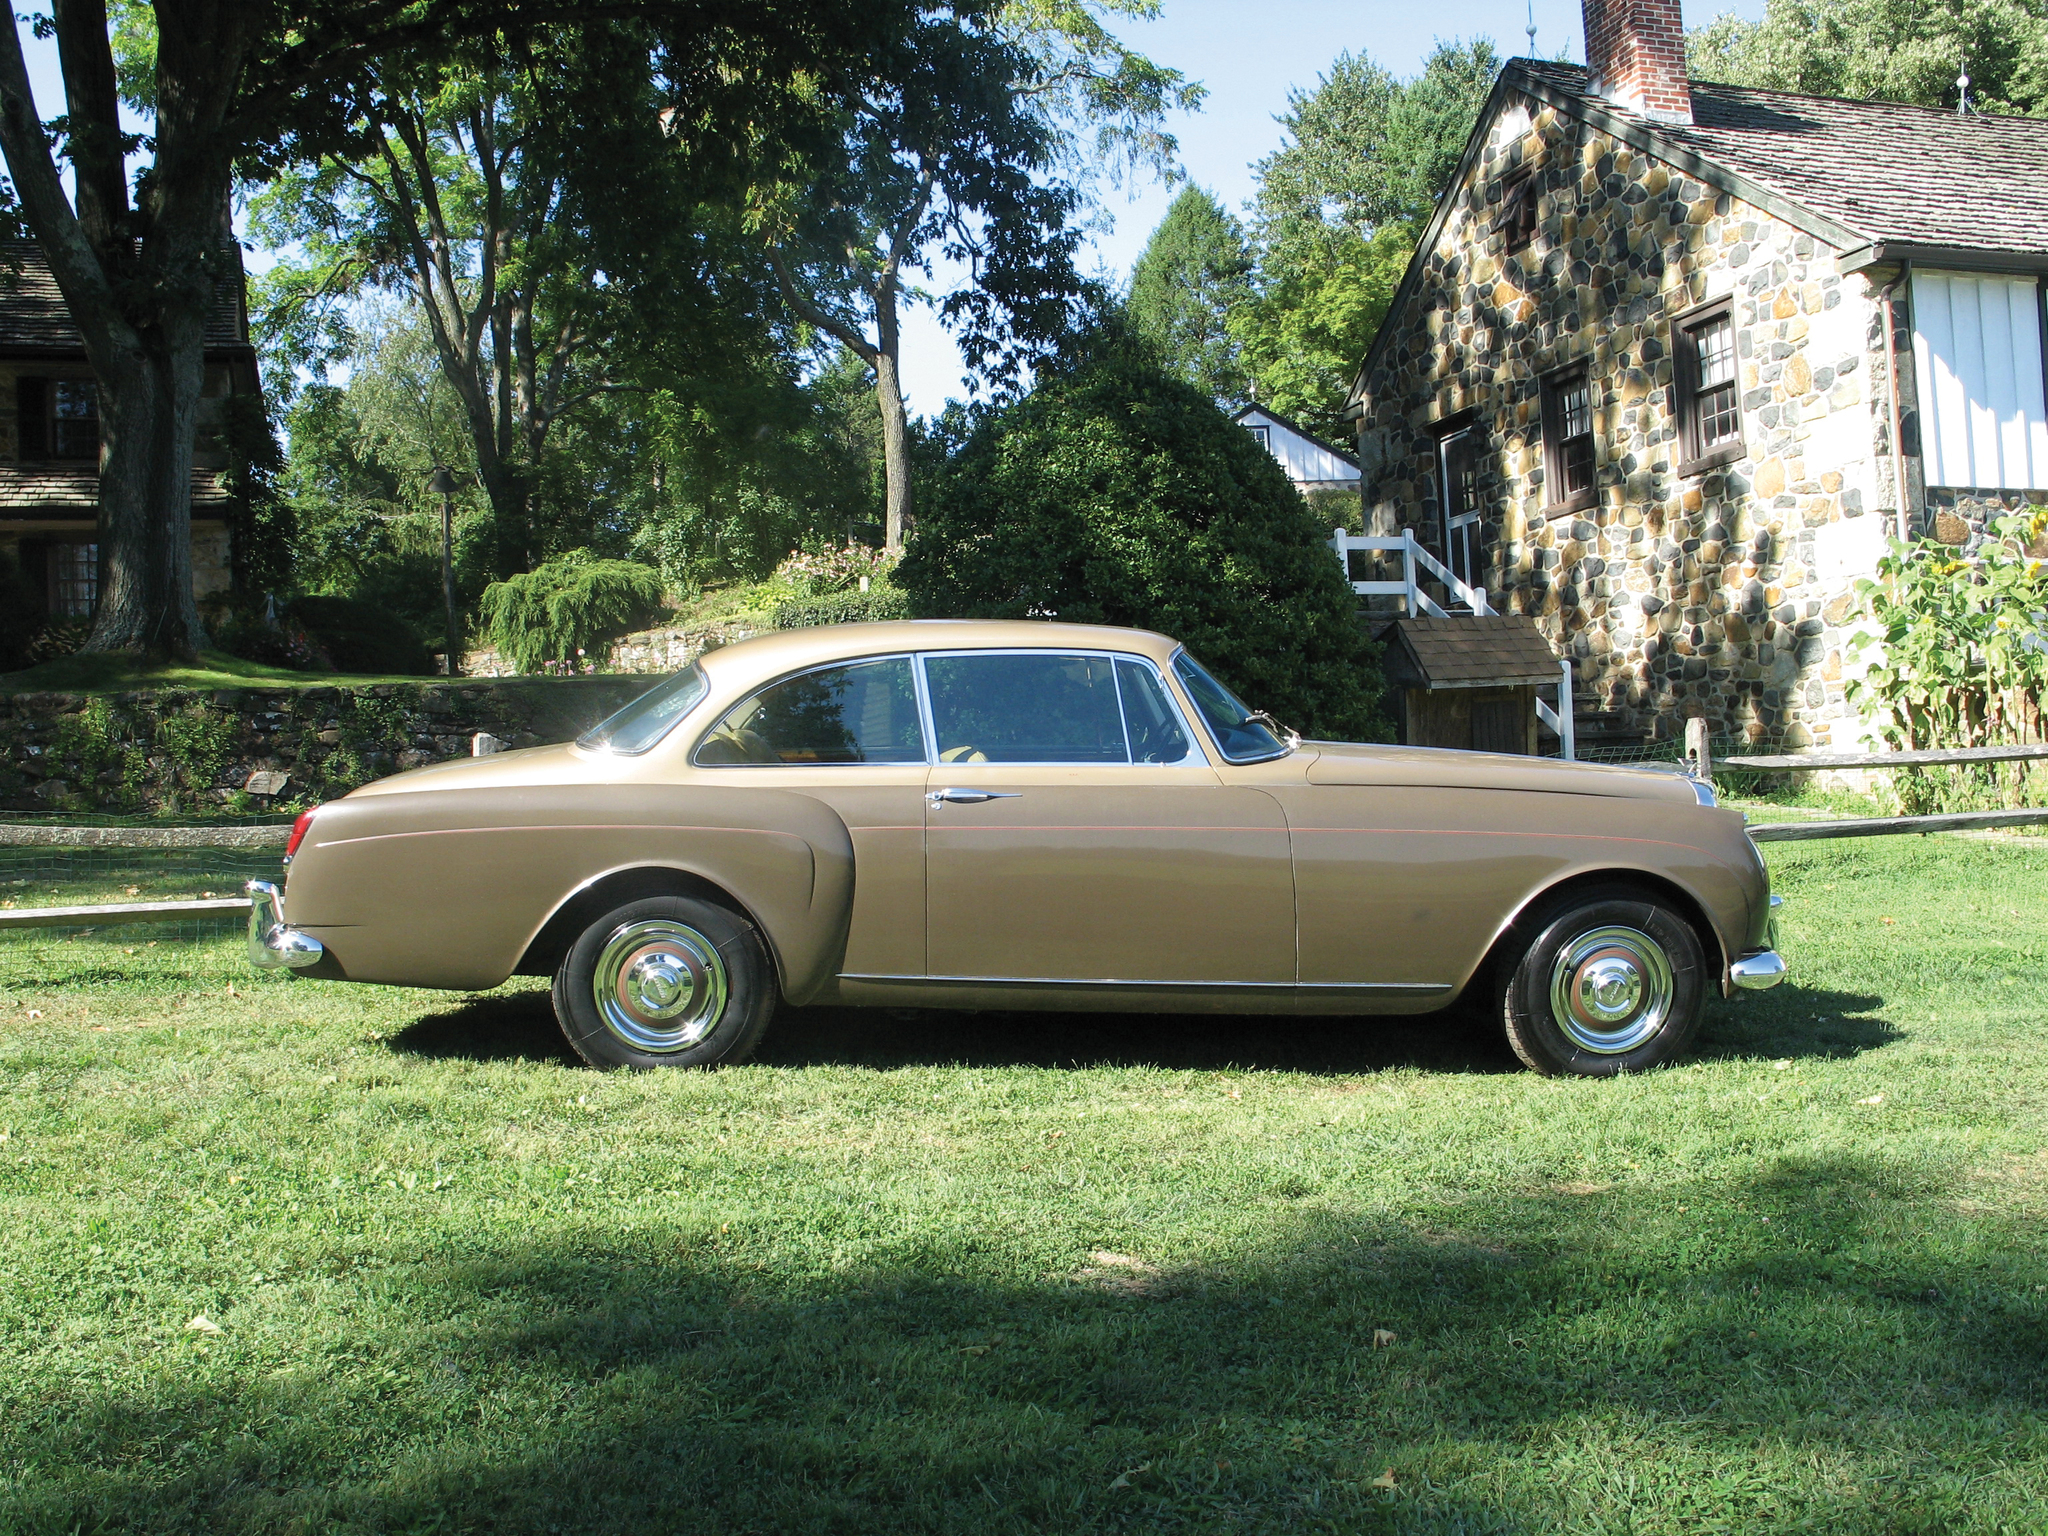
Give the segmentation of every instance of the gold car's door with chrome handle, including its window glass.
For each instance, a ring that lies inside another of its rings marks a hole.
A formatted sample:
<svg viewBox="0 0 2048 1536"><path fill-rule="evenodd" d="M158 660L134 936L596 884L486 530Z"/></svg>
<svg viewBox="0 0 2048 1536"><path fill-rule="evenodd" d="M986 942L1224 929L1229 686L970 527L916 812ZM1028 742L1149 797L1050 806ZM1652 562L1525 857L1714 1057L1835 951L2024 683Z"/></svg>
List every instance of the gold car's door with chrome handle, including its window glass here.
<svg viewBox="0 0 2048 1536"><path fill-rule="evenodd" d="M928 975L1292 987L1280 807L1221 782L1151 662L920 659Z"/></svg>

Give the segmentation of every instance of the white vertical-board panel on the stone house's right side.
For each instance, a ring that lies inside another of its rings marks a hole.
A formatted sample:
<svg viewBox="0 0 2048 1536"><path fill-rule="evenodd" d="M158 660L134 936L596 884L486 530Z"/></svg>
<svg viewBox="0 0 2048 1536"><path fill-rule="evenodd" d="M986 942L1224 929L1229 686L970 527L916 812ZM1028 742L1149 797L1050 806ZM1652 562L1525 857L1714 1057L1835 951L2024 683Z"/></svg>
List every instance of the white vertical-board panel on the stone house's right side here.
<svg viewBox="0 0 2048 1536"><path fill-rule="evenodd" d="M2048 489L2040 283L1915 272L1913 371L1929 485Z"/></svg>

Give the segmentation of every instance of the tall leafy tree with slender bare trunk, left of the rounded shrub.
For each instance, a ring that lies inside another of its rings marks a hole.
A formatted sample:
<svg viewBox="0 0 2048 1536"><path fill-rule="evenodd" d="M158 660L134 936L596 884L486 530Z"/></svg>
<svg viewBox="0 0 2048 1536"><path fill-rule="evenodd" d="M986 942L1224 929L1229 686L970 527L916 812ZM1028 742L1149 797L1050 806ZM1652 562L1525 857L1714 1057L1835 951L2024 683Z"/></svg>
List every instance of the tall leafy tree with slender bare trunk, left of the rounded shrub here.
<svg viewBox="0 0 2048 1536"><path fill-rule="evenodd" d="M930 303L932 258L973 279L938 301L971 369L997 383L1059 344L1081 281L1071 227L1100 160L1165 166L1169 106L1200 88L1122 47L1102 12L1155 0L1012 0L991 25L926 18L881 74L850 92L829 147L772 141L752 209L788 307L874 375L885 463L885 545L911 506L901 311ZM1092 129L1083 145L1081 129Z"/></svg>

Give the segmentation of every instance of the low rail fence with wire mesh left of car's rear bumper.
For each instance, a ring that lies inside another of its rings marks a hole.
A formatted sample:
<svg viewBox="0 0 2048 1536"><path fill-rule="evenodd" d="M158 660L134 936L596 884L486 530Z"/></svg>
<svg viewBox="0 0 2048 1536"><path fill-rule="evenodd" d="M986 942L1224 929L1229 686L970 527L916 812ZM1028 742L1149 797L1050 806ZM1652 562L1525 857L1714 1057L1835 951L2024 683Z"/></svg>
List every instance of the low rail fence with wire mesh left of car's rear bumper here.
<svg viewBox="0 0 2048 1536"><path fill-rule="evenodd" d="M211 827L121 829L119 844L82 842L106 827L0 827L0 911L25 907L76 907L111 901L197 901L242 895L248 881L274 881L283 836L242 838L242 846L209 846L203 838L231 838ZM176 838L174 846L133 846L133 834ZM268 844L268 846L266 846ZM0 924L0 944L92 940L137 944L209 940L246 926L240 913L172 918L152 924L10 928Z"/></svg>

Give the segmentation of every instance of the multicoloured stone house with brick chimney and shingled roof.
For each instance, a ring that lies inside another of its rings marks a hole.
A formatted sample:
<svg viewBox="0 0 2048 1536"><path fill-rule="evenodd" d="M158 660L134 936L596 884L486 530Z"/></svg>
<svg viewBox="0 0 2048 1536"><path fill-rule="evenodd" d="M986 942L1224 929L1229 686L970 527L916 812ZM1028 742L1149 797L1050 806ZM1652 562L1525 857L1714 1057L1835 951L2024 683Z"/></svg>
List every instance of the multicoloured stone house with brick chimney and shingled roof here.
<svg viewBox="0 0 2048 1536"><path fill-rule="evenodd" d="M2048 121L1513 59L1352 389L1366 530L1575 662L1581 741L1853 745L1853 582L2048 504Z"/></svg>

